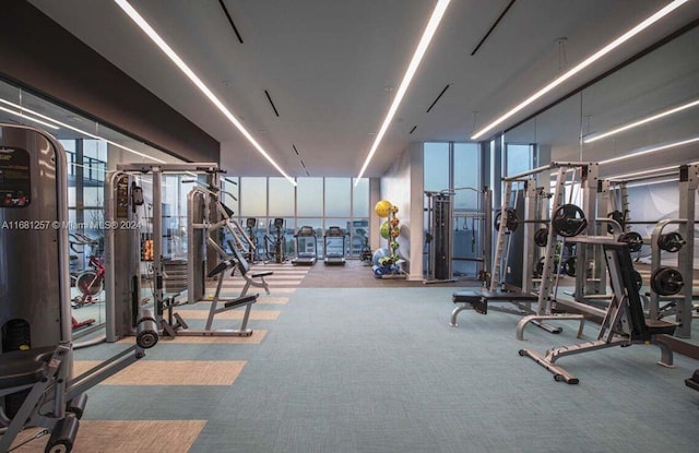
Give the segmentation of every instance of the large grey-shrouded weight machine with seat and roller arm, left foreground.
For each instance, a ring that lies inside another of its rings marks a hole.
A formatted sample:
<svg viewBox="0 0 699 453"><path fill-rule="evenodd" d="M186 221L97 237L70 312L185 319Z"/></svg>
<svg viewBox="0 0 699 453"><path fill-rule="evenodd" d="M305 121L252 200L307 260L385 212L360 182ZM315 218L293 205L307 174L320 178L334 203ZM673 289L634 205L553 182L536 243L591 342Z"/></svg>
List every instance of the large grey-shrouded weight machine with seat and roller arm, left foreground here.
<svg viewBox="0 0 699 453"><path fill-rule="evenodd" d="M38 129L0 124L0 452L32 427L70 452L85 392L144 357L157 326L139 311L133 346L73 375L67 159Z"/></svg>

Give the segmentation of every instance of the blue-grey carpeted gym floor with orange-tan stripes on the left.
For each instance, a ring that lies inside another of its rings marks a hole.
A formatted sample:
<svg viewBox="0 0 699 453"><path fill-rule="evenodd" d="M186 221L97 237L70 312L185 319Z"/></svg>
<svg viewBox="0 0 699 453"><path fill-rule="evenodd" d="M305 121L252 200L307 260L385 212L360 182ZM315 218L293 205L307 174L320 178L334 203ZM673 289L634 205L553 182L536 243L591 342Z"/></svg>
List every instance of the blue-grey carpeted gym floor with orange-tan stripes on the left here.
<svg viewBox="0 0 699 453"><path fill-rule="evenodd" d="M574 322L559 335L530 326L524 343L511 314L465 311L453 329L453 285L376 281L351 263L268 265L252 337L162 339L88 392L73 451L697 451L699 393L684 379L699 361L677 355L666 369L654 346L603 349L561 358L580 379L566 385L517 351L580 342ZM80 349L75 366L125 346Z"/></svg>

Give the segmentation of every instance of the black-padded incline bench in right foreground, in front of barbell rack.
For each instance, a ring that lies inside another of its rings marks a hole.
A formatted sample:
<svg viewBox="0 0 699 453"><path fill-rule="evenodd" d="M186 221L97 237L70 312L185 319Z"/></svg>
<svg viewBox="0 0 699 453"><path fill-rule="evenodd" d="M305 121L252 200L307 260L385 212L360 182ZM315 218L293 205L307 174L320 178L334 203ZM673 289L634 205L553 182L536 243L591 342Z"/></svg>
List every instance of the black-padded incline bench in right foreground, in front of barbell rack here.
<svg viewBox="0 0 699 453"><path fill-rule="evenodd" d="M614 296L600 326L597 339L548 349L545 356L530 349L519 350L520 356L530 357L554 373L556 381L569 384L579 382L578 378L555 365L560 357L612 346L651 343L661 349L661 360L657 363L668 368L673 366L673 351L660 335L673 335L677 325L666 321L645 319L632 275L633 263L628 245L611 242L603 243L603 248ZM695 373L695 375L697 374Z"/></svg>

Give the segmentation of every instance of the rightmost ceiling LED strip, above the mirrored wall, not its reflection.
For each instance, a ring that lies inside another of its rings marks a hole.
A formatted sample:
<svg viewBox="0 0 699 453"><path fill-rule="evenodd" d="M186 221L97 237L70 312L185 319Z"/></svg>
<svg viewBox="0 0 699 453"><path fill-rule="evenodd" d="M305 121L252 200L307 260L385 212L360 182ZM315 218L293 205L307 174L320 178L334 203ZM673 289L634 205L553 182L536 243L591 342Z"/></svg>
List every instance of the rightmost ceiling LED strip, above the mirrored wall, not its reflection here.
<svg viewBox="0 0 699 453"><path fill-rule="evenodd" d="M570 69L565 74L560 75L559 78L557 78L556 80L550 82L548 85L544 86L543 88L541 88L540 91L537 91L536 93L534 93L533 95L528 97L525 100L523 100L517 107L514 107L513 109L511 109L507 114L502 115L500 118L496 119L495 121L493 121L491 123L489 123L485 128L481 129L478 132L476 132L475 134L473 134L471 136L471 140L477 140L477 139L482 138L487 132L489 132L490 130L493 130L494 128L496 128L497 126L502 123L505 120L507 120L508 118L512 117L518 111L522 110L524 107L529 106L530 104L532 104L533 102L535 102L540 97L544 96L546 93L550 92L556 86L560 85L561 83L564 83L568 79L570 79L573 75L576 75L578 72L580 72L583 69L588 68L590 64L594 63L595 61L597 61L599 59L601 59L602 57L604 57L605 55L607 55L612 50L614 50L617 47L619 47L621 44L624 44L627 40L631 39L633 36L638 35L643 29L645 29L649 26L653 25L655 22L660 21L662 17L664 17L667 14L670 14L675 9L682 7L684 3L688 2L688 1L689 0L674 0L674 1L672 1L671 3L665 5L663 9L657 11L655 14L651 15L650 17L648 17L647 20L644 20L640 24L636 25L633 28L629 29L628 32L626 32L625 34L619 36L618 38L614 39L612 43L609 43L606 46L604 46L602 49L600 49L596 52L594 52L592 56L588 57L582 62L578 63L578 65L576 65L574 68Z"/></svg>

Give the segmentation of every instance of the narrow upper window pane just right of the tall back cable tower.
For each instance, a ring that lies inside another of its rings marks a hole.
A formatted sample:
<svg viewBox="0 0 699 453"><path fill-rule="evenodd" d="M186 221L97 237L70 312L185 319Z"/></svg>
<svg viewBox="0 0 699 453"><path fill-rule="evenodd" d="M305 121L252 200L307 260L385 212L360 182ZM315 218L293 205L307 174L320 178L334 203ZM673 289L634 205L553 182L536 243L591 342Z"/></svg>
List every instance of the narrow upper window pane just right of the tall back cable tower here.
<svg viewBox="0 0 699 453"><path fill-rule="evenodd" d="M481 190L481 152L476 143L454 143L454 188ZM478 193L458 190L454 210L478 210Z"/></svg>

